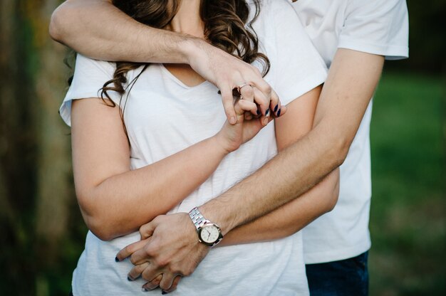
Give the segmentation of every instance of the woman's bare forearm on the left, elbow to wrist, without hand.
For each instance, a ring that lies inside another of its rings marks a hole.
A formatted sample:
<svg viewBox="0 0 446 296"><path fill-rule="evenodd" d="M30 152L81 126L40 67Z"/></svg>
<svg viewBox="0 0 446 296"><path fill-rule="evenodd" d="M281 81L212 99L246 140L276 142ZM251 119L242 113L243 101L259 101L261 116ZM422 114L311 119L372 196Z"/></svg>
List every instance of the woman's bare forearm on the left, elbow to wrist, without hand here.
<svg viewBox="0 0 446 296"><path fill-rule="evenodd" d="M217 169L227 152L216 141L205 139L154 164L110 176L91 189L76 190L90 230L109 240L169 211Z"/></svg>

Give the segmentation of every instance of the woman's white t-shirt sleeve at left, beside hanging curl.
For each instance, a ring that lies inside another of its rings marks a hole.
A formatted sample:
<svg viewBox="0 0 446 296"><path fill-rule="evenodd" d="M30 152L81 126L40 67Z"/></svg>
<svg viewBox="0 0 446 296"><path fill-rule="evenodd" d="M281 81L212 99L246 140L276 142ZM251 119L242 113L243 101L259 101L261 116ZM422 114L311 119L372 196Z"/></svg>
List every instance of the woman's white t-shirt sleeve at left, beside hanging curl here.
<svg viewBox="0 0 446 296"><path fill-rule="evenodd" d="M59 109L63 121L68 126L71 126L71 102L78 99L100 97L100 89L104 83L113 78L114 72L114 63L93 60L81 54L76 56L73 81ZM119 106L120 94L108 91L108 95Z"/></svg>

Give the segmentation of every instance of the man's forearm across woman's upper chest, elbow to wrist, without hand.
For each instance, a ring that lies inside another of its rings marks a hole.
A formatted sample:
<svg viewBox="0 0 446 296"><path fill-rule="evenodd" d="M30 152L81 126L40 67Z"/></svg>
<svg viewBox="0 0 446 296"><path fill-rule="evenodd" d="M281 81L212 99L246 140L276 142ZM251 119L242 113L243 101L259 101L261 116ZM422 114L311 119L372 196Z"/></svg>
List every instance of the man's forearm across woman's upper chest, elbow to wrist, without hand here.
<svg viewBox="0 0 446 296"><path fill-rule="evenodd" d="M198 38L138 23L107 0L68 0L54 11L53 39L98 60L187 63Z"/></svg>

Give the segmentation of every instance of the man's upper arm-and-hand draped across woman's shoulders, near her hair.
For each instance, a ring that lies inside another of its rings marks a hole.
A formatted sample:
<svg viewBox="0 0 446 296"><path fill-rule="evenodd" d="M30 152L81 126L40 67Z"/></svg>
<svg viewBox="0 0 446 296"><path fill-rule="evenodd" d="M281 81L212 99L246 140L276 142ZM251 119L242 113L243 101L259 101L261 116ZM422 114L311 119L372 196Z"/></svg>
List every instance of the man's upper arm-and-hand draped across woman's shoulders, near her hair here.
<svg viewBox="0 0 446 296"><path fill-rule="evenodd" d="M279 104L279 97L253 65L200 38L138 23L110 0L65 1L54 11L49 31L55 41L97 60L189 64L219 88L232 124L237 118L232 90L239 85L249 83L260 90L244 97L254 100L263 115Z"/></svg>

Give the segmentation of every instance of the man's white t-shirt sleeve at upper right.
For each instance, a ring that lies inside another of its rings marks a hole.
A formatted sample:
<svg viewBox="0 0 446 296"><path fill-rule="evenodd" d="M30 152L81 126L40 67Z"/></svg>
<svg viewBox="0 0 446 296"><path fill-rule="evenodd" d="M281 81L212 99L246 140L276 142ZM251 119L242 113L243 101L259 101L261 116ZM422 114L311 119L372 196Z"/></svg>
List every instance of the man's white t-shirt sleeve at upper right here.
<svg viewBox="0 0 446 296"><path fill-rule="evenodd" d="M351 0L339 35L338 48L408 58L408 7L405 0Z"/></svg>

